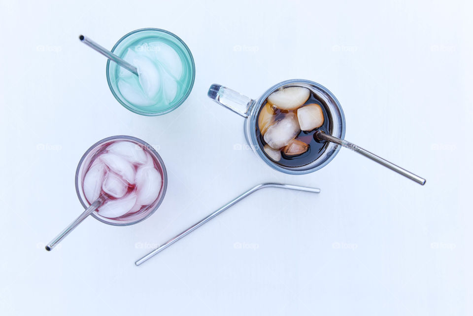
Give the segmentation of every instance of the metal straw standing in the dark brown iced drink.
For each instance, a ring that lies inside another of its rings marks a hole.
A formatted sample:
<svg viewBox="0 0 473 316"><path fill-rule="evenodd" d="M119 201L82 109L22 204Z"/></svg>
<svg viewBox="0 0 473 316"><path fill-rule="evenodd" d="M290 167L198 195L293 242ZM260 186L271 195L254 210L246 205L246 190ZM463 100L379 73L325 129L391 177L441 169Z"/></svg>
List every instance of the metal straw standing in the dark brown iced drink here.
<svg viewBox="0 0 473 316"><path fill-rule="evenodd" d="M397 172L398 174L403 175L406 178L409 178L412 181L419 183L420 185L425 184L425 179L424 178L421 178L420 176L416 176L413 173L408 172L407 170L405 170L405 169L403 169L399 166L396 166L395 164L393 164L393 163L391 163L391 162L389 162L389 161L387 161L387 160L385 160L385 159L383 159L379 156L376 156L372 152L369 152L366 149L358 147L354 143L351 143L351 142L346 141L346 140L339 139L338 137L333 137L331 135L327 135L322 131L318 131L317 133L315 133L315 137L319 140L327 140L327 141L334 142L338 145L342 145L343 147L346 147L348 149L356 151L357 153L362 154L363 156L365 156L367 158L370 158L372 161L375 161L378 164L383 165L384 167L389 168L392 171Z"/></svg>

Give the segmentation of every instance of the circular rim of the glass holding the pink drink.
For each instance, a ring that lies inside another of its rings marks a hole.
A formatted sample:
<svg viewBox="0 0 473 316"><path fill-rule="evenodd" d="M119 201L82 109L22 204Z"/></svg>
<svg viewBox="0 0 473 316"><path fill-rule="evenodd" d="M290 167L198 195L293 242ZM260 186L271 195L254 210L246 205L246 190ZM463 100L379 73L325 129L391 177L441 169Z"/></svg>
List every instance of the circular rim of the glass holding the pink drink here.
<svg viewBox="0 0 473 316"><path fill-rule="evenodd" d="M158 154L158 152L150 145L148 144L146 141L144 140L140 140L139 138L136 138L136 137L133 137L133 136L127 136L127 135L116 135L116 136L110 136L110 137L107 137L107 138L104 138L102 140L99 140L97 141L95 144L93 144L92 146L89 147L89 149L87 149L85 151L85 153L82 155L82 157L80 158L79 160L79 163L77 164L77 169L75 171L75 192L77 194L77 198L79 199L79 202L80 204L82 205L82 207L84 209L87 209L89 207L89 205L87 205L85 203L85 201L82 199L82 196L80 194L80 190L79 190L79 171L80 171L80 168L82 166L82 163L84 162L85 158L87 157L87 155L94 149L96 148L98 145L108 141L108 140L117 140L117 139L125 139L125 140L134 140L136 142L139 142L140 144L144 145L146 147L146 149L148 149L149 151L151 151L155 157L158 159L159 163L160 163L160 166L161 166L161 169L163 170L163 190L162 192L160 192L161 194L161 198L159 199L158 203L156 204L156 206L153 208L152 211L150 211L146 216L144 216L143 218L140 218L140 219L137 219L133 222L129 222L129 223L115 223L115 222L110 222L110 221L107 221L105 219L103 219L103 216L98 216L95 211L93 211L91 213L91 216L94 217L95 219L101 221L102 223L105 223L105 224L108 224L108 225L113 225L113 226L130 226L130 225L134 225L134 224L137 224L143 220L145 220L146 218L148 218L149 216L151 216L158 208L159 206L161 205L161 203L163 202L163 199L166 195L166 189L168 188L168 173L166 171L166 166L164 165L164 161L163 159L161 158L161 156Z"/></svg>

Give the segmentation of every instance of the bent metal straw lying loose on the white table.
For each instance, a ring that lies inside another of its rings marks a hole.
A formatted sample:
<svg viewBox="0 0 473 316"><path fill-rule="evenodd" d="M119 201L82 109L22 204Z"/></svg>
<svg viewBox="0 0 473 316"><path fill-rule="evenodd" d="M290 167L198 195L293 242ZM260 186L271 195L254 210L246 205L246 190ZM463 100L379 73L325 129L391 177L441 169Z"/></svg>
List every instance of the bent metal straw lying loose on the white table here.
<svg viewBox="0 0 473 316"><path fill-rule="evenodd" d="M298 191L305 191L305 192L312 192L312 193L320 193L320 189L310 188L310 187L306 187L306 186L282 184L282 183L261 183L261 184L258 184L256 186L252 187L251 189L249 189L248 191L244 192L243 194L237 196L235 199L233 199L229 203L225 204L224 206L222 206L217 211L214 211L213 213L211 213L207 217L205 217L202 220L200 220L199 222L195 223L194 225L192 225L191 227L189 227L188 229L186 229L185 231L183 231L179 235L171 238L164 245L161 245L157 249L151 251L150 253L148 253L147 255L145 255L144 257L139 259L138 261L136 261L135 265L139 266L140 264L142 264L146 260L150 259L151 257L155 256L159 252L163 251L167 247L169 247L172 244L174 244L175 242L177 242L179 239L183 238L184 236L187 236L188 234L190 234L191 232L193 232L197 228L201 227L203 224L205 224L206 222L208 222L209 220L211 220L212 218L214 218L218 214L222 213L223 211L227 210L228 208L235 205L239 201L243 200L244 198L246 198L251 193L253 193L255 191L258 191L259 189L264 189L264 188L281 188L281 189L298 190Z"/></svg>

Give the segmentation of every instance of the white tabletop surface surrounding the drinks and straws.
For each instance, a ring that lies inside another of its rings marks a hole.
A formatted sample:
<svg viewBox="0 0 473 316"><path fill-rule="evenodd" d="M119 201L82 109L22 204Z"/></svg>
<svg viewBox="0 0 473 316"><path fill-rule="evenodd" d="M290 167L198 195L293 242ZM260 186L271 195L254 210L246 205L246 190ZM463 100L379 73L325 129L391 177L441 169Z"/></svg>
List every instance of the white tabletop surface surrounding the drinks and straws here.
<svg viewBox="0 0 473 316"><path fill-rule="evenodd" d="M1 0L1 315L471 315L472 5L452 1ZM116 102L105 59L144 27L190 47L188 100L160 117ZM257 98L305 78L329 88L346 139L424 187L342 149L288 176L244 145L243 119L206 97ZM169 173L156 213L130 227L87 218L74 173L113 135L157 146ZM137 258L249 187L279 181L140 267ZM241 248L239 248L241 246Z"/></svg>

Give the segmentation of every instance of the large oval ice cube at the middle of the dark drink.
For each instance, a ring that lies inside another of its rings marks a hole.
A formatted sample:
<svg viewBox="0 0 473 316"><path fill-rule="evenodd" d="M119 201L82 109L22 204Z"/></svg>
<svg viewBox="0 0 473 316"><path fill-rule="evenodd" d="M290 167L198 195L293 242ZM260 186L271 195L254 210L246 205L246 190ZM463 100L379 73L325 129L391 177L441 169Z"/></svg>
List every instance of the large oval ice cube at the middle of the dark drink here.
<svg viewBox="0 0 473 316"><path fill-rule="evenodd" d="M289 112L282 120L268 127L264 139L272 149L280 149L295 138L300 131L296 114Z"/></svg>

